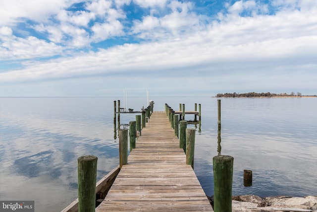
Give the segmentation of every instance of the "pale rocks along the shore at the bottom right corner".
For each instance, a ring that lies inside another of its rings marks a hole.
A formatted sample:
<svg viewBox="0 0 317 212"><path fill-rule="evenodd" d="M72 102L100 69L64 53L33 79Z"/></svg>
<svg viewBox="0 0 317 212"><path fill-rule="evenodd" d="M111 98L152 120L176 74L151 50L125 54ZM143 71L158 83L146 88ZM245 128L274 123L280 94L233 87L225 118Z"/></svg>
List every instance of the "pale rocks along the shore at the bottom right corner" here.
<svg viewBox="0 0 317 212"><path fill-rule="evenodd" d="M213 207L213 196L208 197ZM232 212L317 212L317 197L232 197Z"/></svg>

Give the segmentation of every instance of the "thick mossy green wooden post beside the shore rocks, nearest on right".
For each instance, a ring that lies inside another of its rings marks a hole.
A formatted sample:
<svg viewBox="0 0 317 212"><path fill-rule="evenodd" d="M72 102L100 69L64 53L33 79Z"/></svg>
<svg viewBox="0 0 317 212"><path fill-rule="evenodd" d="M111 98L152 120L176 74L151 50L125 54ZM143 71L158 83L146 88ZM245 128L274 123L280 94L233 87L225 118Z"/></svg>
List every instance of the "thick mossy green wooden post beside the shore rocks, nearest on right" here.
<svg viewBox="0 0 317 212"><path fill-rule="evenodd" d="M217 155L212 158L214 212L232 212L233 157Z"/></svg>

